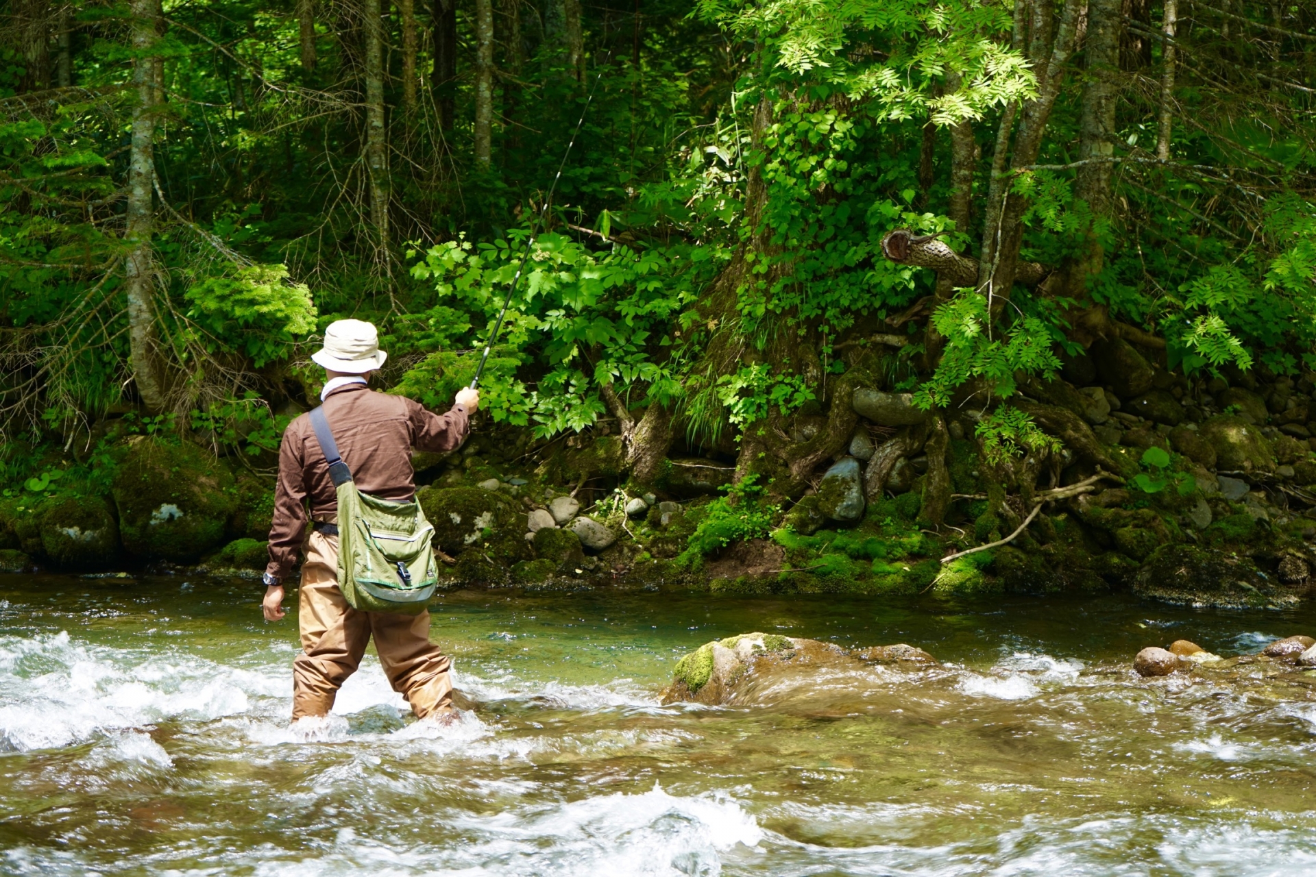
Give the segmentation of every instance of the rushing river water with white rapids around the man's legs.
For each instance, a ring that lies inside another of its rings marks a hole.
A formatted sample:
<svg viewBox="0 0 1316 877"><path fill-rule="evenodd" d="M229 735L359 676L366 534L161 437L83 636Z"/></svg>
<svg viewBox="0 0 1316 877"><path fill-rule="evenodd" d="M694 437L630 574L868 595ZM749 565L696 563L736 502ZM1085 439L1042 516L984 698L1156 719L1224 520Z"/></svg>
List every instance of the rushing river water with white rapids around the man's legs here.
<svg viewBox="0 0 1316 877"><path fill-rule="evenodd" d="M461 592L433 636L478 702L412 722L379 664L290 728L296 621L201 579L0 579L4 874L1316 874L1316 673L1145 681L1295 613ZM659 705L761 630L944 663Z"/></svg>

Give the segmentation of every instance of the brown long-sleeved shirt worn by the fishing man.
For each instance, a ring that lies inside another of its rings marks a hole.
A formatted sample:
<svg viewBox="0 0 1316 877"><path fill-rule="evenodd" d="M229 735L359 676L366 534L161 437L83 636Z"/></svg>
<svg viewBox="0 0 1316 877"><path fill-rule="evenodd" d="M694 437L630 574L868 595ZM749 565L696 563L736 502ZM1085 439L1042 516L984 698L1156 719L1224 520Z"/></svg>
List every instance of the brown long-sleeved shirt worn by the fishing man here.
<svg viewBox="0 0 1316 877"><path fill-rule="evenodd" d="M382 500L409 500L416 493L411 450L451 451L470 430L466 410L454 406L447 414L432 414L401 396L387 396L365 384L347 384L324 401L325 418L338 443L338 454L351 469L362 493ZM333 521L338 493L329 477L329 463L316 440L311 418L303 414L288 423L279 446L279 486L274 496L270 527L270 564L266 572L283 581L297 561L307 531L307 500L311 518Z"/></svg>

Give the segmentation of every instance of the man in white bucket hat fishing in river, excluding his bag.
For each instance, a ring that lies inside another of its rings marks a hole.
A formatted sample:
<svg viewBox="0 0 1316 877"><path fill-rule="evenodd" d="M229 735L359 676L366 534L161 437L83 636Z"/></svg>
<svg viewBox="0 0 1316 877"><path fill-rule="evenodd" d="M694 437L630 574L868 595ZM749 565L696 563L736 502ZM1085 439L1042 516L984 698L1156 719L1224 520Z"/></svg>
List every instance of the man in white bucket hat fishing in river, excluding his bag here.
<svg viewBox="0 0 1316 877"><path fill-rule="evenodd" d="M372 325L340 320L325 330L324 348L311 359L325 368L320 398L357 488L401 501L416 493L411 450L450 451L459 446L470 430L468 417L479 405L479 393L462 389L447 414L432 414L408 398L367 388L367 377L386 358ZM309 535L308 501L313 522ZM388 681L412 711L418 718L450 715L449 660L429 642L429 611L359 611L338 589L337 514L329 464L311 418L303 414L288 425L279 447L279 486L262 606L267 621L283 618L283 581L304 548L297 601L301 653L292 661L292 719L328 715L338 689L361 665L371 636Z"/></svg>

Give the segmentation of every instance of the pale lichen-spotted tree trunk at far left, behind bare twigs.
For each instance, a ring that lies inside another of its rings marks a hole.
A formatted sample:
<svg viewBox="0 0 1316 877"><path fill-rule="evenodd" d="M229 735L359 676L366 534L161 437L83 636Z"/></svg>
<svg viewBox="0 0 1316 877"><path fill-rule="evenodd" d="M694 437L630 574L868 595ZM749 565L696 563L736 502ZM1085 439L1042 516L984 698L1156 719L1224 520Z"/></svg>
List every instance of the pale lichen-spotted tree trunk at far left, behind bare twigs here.
<svg viewBox="0 0 1316 877"><path fill-rule="evenodd" d="M133 85L137 107L133 108L132 149L128 166L128 206L124 241L129 251L125 260L128 297L128 343L137 393L149 412L164 409L164 383L161 376L155 330L155 271L151 252L155 204L155 116L158 97L155 82L157 57L150 54L159 43L161 0L132 0Z"/></svg>

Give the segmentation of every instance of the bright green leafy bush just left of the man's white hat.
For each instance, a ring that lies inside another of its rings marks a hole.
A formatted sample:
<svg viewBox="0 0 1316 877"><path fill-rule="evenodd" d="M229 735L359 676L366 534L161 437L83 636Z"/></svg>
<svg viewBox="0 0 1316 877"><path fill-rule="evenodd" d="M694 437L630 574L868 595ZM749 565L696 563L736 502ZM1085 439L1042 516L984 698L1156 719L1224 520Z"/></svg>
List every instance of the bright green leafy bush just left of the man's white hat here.
<svg viewBox="0 0 1316 877"><path fill-rule="evenodd" d="M255 264L207 277L183 298L188 318L205 334L211 352L238 350L261 368L316 327L316 306L304 283L291 283L282 264Z"/></svg>

